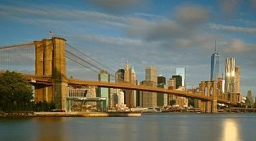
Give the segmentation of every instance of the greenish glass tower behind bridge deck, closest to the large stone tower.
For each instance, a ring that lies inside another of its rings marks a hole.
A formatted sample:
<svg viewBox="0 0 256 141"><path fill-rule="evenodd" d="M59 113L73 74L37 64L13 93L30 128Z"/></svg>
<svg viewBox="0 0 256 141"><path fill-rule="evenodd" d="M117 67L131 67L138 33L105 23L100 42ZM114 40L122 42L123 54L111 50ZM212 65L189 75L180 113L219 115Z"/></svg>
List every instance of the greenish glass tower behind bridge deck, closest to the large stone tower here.
<svg viewBox="0 0 256 141"><path fill-rule="evenodd" d="M110 75L106 71L100 71L98 75L98 80L103 82L110 82ZM109 88L98 87L97 97L106 97L106 101L100 104L102 111L107 111L109 108Z"/></svg>

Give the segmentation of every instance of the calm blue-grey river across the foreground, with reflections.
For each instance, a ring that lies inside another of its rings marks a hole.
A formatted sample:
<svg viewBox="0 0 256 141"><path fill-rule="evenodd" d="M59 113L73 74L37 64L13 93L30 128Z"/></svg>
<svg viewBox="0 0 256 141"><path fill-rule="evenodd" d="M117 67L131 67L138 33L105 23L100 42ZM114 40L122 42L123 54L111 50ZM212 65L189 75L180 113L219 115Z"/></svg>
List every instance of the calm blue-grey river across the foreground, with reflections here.
<svg viewBox="0 0 256 141"><path fill-rule="evenodd" d="M0 118L0 140L256 140L256 114Z"/></svg>

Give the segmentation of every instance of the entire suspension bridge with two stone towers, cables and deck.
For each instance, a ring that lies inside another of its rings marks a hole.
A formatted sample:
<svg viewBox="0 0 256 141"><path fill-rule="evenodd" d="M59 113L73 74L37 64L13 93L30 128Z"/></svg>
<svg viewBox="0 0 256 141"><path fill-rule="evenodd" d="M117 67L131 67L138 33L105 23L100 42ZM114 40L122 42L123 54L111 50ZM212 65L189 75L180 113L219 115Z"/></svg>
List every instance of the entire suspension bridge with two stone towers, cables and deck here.
<svg viewBox="0 0 256 141"><path fill-rule="evenodd" d="M66 43L66 39L61 37L0 47L0 59L1 73L6 70L22 73L23 77L35 86L35 102L54 101L56 109L66 109L68 87L77 85L157 92L200 99L202 112L217 112L217 102L237 103L234 94L217 94L215 81L201 82L201 93L198 94L145 85L132 85L128 82L78 79L85 73L99 74L100 71L108 71L111 80L116 80L113 74L115 71Z"/></svg>

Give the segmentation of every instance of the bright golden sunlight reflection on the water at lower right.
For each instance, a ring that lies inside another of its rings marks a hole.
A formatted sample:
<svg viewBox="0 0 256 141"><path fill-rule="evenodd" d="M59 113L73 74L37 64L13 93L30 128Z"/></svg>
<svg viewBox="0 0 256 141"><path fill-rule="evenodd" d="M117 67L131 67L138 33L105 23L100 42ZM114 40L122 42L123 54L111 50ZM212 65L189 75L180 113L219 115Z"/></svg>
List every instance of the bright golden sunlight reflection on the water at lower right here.
<svg viewBox="0 0 256 141"><path fill-rule="evenodd" d="M228 118L224 119L222 125L222 135L221 140L222 141L238 141L242 137L240 137L240 128L238 128L238 121L236 121L236 118Z"/></svg>

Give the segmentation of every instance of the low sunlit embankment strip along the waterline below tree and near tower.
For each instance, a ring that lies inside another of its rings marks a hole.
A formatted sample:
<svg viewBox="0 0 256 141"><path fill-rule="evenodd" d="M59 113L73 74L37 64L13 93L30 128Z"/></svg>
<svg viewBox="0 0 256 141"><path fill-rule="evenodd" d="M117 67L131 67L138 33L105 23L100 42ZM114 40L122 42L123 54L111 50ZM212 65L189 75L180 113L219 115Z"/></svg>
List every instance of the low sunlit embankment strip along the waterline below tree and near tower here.
<svg viewBox="0 0 256 141"><path fill-rule="evenodd" d="M18 118L18 117L102 117L102 116L141 116L140 113L127 112L35 112L29 114L0 114L0 118Z"/></svg>

